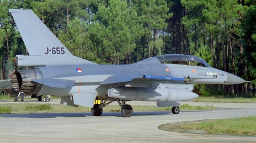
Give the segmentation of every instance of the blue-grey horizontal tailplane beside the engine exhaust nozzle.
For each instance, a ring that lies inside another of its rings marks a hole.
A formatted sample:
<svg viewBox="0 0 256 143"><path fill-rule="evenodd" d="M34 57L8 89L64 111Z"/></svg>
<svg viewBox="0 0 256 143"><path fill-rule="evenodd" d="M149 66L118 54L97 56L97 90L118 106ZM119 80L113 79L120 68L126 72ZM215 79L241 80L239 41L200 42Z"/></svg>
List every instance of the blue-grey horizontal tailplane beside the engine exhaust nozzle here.
<svg viewBox="0 0 256 143"><path fill-rule="evenodd" d="M49 87L57 87L57 88L69 88L74 85L76 81L74 80L65 80L65 79L34 79L34 82L38 82L40 84L44 84Z"/></svg>

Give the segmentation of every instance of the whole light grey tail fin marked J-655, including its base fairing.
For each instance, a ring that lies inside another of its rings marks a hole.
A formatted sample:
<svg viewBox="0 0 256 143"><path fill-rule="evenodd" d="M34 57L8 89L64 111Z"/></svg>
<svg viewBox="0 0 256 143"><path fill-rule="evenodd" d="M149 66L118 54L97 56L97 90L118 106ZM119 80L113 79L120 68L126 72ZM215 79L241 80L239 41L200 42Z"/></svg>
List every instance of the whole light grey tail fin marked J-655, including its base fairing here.
<svg viewBox="0 0 256 143"><path fill-rule="evenodd" d="M32 10L10 9L29 56L17 56L17 66L95 64L73 56Z"/></svg>

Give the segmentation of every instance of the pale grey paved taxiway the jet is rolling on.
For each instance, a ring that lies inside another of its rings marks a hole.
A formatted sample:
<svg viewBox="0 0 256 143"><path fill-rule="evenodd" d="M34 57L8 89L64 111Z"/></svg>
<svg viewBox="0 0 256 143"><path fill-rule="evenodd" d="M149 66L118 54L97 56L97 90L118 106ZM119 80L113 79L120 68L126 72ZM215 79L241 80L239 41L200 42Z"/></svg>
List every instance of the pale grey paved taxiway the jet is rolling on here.
<svg viewBox="0 0 256 143"><path fill-rule="evenodd" d="M48 103L57 102L51 100ZM131 102L131 105L143 103L153 105L154 102ZM181 110L177 115L172 114L172 111L134 111L132 117L122 117L120 112L103 112L100 117L94 117L90 113L0 114L0 140L1 142L256 142L256 136L178 133L157 128L161 124L180 121L256 116L255 103L208 104L218 107L218 110Z"/></svg>

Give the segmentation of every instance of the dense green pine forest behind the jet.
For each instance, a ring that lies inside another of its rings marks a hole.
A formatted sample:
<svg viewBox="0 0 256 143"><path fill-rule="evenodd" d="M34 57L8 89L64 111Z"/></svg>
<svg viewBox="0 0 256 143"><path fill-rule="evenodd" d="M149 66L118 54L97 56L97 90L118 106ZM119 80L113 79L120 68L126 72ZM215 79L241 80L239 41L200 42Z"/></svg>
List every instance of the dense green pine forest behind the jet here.
<svg viewBox="0 0 256 143"><path fill-rule="evenodd" d="M161 54L191 54L252 80L234 86L196 84L195 93L255 97L255 0L1 0L1 79L4 57L13 61L17 54L29 54L8 13L20 8L33 10L75 56L132 64Z"/></svg>

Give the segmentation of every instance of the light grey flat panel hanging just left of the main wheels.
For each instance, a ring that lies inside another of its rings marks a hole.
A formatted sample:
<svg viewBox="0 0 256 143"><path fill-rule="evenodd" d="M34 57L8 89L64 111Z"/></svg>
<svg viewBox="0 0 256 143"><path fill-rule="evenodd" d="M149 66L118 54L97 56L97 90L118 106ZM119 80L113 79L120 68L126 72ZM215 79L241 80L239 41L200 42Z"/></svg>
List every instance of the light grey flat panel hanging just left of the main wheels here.
<svg viewBox="0 0 256 143"><path fill-rule="evenodd" d="M96 94L72 94L74 104L76 105L82 105L85 107L93 107L93 104L95 102Z"/></svg>

